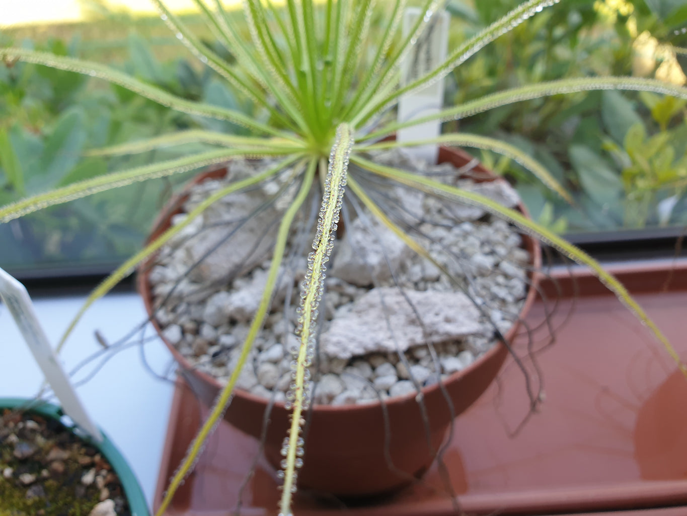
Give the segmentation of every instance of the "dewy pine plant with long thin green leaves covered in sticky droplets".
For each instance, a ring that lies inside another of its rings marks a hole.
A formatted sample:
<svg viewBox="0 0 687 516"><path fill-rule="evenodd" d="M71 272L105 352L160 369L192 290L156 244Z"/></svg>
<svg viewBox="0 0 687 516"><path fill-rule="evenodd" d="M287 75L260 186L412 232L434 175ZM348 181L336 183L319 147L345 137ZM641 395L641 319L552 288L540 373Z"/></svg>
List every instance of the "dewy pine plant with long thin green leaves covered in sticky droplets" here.
<svg viewBox="0 0 687 516"><path fill-rule="evenodd" d="M383 2L383 5L379 7L387 10L387 16L383 21L383 26L374 31L370 28L373 0L323 0L317 5L313 0L286 0L285 8L279 9L273 6L271 0L245 0L243 23L250 30L250 41L241 39L240 27L236 19L233 14L223 10L219 0L214 0L212 5L210 5L210 0L194 0L210 30L231 50L235 58L235 62L232 63L224 61L210 48L203 45L196 35L187 30L182 21L166 8L163 1L153 1L159 8L161 17L174 30L177 38L203 63L221 74L227 83L240 94L267 111L269 122L258 121L232 109L177 98L157 87L98 63L21 48L0 49L0 58L5 63L11 64L16 60L21 60L102 78L185 113L229 120L249 129L253 134L253 136L234 136L210 131L187 131L144 142L134 142L117 149L105 149L103 153L135 153L183 142L204 142L217 147L214 151L196 153L181 159L157 162L137 169L119 171L69 184L63 188L3 206L0 208L0 221L8 222L41 208L93 195L106 189L199 169L202 166L225 162L238 156L282 157L276 166L271 166L254 177L231 182L221 191L213 193L194 208L183 222L166 230L156 241L126 261L91 294L87 305L78 314L80 316L88 305L108 292L142 260L164 246L212 202L230 193L250 189L260 182L273 178L287 167L293 167L297 171L293 181L300 185L300 189L280 222L278 236L273 244L273 258L267 286L262 292L258 312L243 343L238 367L232 372L210 416L190 447L187 457L171 480L159 514L165 512L174 492L192 469L203 443L232 400L232 391L240 368L249 356L251 345L260 332L271 303L291 222L308 193L322 189L322 207L319 211L317 228L316 230L313 228L316 236L313 241L313 250L307 259L307 273L302 282L302 303L297 327L300 346L293 350L294 382L293 389L287 396L288 405L293 411L293 420L284 444L285 460L282 473L284 486L280 506L282 515L291 515L291 497L296 488L296 469L299 464L302 464L299 456L302 455L303 445L300 433L304 423L304 410L311 401L311 393L304 387L307 385L304 380L308 377L307 369L313 358L315 325L319 301L324 289L326 264L335 244L339 211L346 195L355 195L368 211L379 219L381 224L393 230L410 248L423 257L431 259L422 246L396 226L392 219L374 204L361 184L348 175L350 164L354 164L357 174L381 176L392 182L431 193L444 200L480 206L488 213L514 224L524 233L533 235L553 246L579 264L589 266L601 281L627 305L627 308L646 327L649 327L656 338L665 345L679 367L686 371L666 338L644 314L642 308L631 299L627 290L584 252L532 223L521 214L504 208L486 197L432 180L427 176L376 164L365 155L368 151L375 149L428 143L488 149L513 158L565 197L563 188L540 164L515 147L498 140L465 133L445 134L430 141L381 142L381 140L398 129L428 120L458 120L509 103L543 96L594 89L627 89L687 98L687 89L657 80L625 77L558 80L509 89L463 105L448 107L432 116L398 123L394 121L394 107L401 96L416 92L440 80L500 34L523 23L543 8L552 6L557 0L530 0L523 3L493 25L459 45L458 48L451 50L447 59L436 69L405 85L401 85L401 63L418 38L422 37L433 23L436 13L442 8L443 2L440 0L420 2L421 12L424 14L414 21L407 36L401 35L399 31L405 0Z"/></svg>

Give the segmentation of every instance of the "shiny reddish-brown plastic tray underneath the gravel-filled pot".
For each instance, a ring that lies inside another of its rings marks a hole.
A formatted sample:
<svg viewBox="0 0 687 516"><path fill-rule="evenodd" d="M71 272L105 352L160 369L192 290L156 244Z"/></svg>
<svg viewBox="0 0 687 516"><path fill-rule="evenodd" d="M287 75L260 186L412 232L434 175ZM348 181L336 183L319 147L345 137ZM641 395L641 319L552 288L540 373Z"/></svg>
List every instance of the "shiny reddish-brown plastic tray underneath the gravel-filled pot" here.
<svg viewBox="0 0 687 516"><path fill-rule="evenodd" d="M687 261L615 266L613 272L687 358ZM556 342L534 330L535 364L528 343L515 347L545 400L528 415L524 376L509 358L496 383L455 422L444 455L464 513L687 515L687 380L651 334L587 272L574 281L559 271L562 296L545 281ZM578 294L572 296L575 287ZM527 318L543 321L543 303ZM531 356L531 355L529 355ZM177 383L155 496L155 507L183 458L206 409ZM174 497L170 516L236 514L238 493L258 455L258 442L219 424L194 473ZM364 468L365 464L361 464ZM258 458L246 481L240 514L276 515L280 491L275 471ZM452 499L436 466L395 495L341 502L299 492L295 513L315 516L451 515ZM651 509L651 510L648 510Z"/></svg>

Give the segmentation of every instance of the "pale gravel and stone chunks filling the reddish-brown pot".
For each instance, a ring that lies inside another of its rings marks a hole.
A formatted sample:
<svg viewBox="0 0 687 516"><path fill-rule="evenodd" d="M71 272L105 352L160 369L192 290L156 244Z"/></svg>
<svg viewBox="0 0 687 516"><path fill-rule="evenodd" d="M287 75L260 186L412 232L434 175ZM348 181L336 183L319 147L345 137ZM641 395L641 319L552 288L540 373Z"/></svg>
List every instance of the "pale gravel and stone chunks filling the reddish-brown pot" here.
<svg viewBox="0 0 687 516"><path fill-rule="evenodd" d="M379 154L376 160L429 173L452 170L447 164L423 168L396 151ZM232 163L228 179L253 175L262 166L239 160ZM192 209L225 182L213 180L195 186L185 209ZM466 180L457 184L507 206L518 202L507 184ZM150 274L156 306L174 289L168 303L156 313L163 335L194 367L221 382L226 382L234 369L260 303L271 254L264 241L273 241L274 222L287 206L284 199L293 195L291 187L256 220L244 219L282 186L283 178L243 197L230 195L217 203L161 250ZM311 368L317 384L316 403L347 405L371 402L379 396L405 396L416 390L410 378L419 385L436 383L437 376L447 378L495 344L493 325L505 333L526 294L523 265L528 264L529 253L520 248L519 233L506 222L480 208L447 204L417 191L396 186L381 191L394 214L406 220L414 217L417 231L409 235L429 250L440 268L418 257L382 224L370 225L369 213L356 216L349 206L352 223L335 244L321 304L325 320L319 361ZM384 199L379 194L376 200ZM306 219L305 212L299 221ZM183 217L176 215L174 221ZM234 236L223 240L236 226L240 227ZM256 243L260 237L266 238ZM311 233L297 230L289 237L277 292L238 379L240 389L284 400L291 383L289 349L299 343L293 331L305 264L304 258L289 259L289 251L305 244L301 251L305 253L311 241ZM196 264L211 244L218 246L218 251ZM441 268L449 272L453 283ZM187 273L189 269L192 271ZM462 290L455 288L456 282ZM287 297L290 304L284 314ZM317 364L319 370L315 370Z"/></svg>

